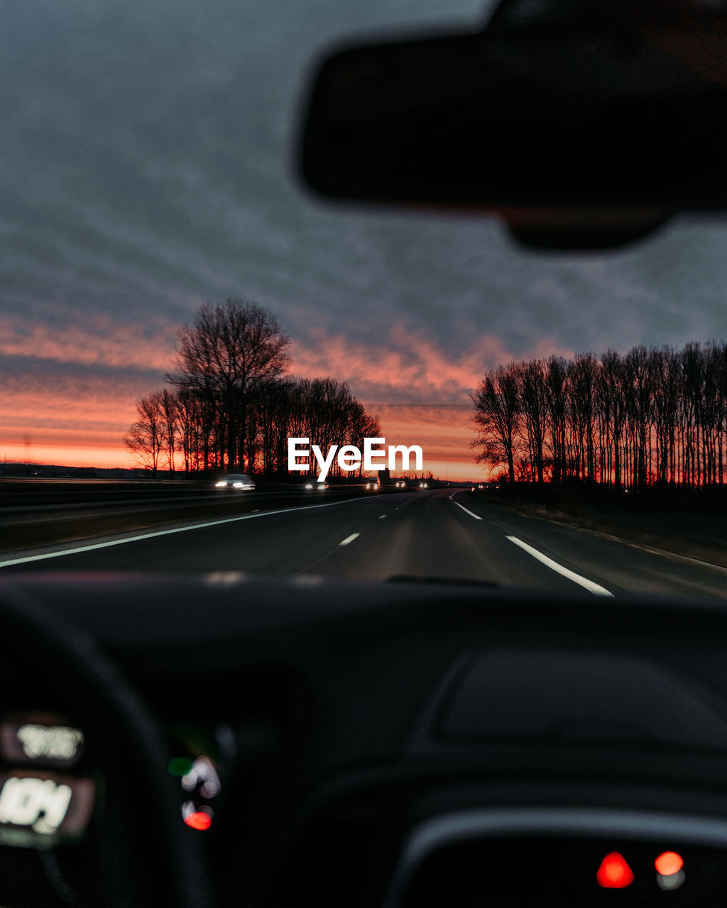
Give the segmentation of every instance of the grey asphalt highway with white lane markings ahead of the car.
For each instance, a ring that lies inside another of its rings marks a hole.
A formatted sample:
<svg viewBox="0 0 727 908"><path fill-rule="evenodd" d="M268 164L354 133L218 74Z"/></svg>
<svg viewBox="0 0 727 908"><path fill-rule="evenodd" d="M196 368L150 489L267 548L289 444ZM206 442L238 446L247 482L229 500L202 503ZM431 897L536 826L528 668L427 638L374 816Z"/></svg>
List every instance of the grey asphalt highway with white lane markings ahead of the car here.
<svg viewBox="0 0 727 908"><path fill-rule="evenodd" d="M453 489L326 493L303 508L211 518L7 553L18 570L246 572L384 580L430 577L498 587L584 588L594 596L727 597L727 570L666 558Z"/></svg>

